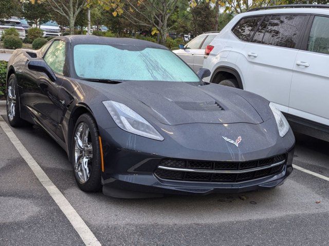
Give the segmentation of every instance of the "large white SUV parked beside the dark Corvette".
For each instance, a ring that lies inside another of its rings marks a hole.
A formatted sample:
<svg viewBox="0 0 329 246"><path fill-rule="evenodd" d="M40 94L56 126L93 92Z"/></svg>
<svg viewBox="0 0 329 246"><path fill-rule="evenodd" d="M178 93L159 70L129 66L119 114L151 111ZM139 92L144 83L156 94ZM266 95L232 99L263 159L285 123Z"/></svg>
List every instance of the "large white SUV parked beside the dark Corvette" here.
<svg viewBox="0 0 329 246"><path fill-rule="evenodd" d="M329 140L329 6L272 8L236 15L214 38L205 80L262 95L296 131Z"/></svg>

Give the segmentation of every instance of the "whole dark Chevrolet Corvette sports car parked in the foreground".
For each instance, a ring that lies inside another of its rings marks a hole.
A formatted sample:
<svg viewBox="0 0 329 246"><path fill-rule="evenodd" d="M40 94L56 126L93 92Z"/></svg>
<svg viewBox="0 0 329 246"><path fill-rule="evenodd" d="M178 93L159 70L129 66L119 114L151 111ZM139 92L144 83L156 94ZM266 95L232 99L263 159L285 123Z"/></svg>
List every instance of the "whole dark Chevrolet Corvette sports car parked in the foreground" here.
<svg viewBox="0 0 329 246"><path fill-rule="evenodd" d="M284 116L207 75L143 40L56 37L11 56L8 119L57 141L83 191L152 197L281 185L295 144Z"/></svg>

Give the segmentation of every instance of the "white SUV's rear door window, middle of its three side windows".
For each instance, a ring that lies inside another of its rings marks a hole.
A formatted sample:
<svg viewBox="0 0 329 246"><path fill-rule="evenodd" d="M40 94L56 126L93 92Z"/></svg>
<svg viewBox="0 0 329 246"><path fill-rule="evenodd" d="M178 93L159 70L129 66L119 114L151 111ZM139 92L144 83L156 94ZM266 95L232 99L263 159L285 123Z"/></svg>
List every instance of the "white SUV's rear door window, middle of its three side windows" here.
<svg viewBox="0 0 329 246"><path fill-rule="evenodd" d="M272 15L262 44L295 48L307 18L306 15Z"/></svg>

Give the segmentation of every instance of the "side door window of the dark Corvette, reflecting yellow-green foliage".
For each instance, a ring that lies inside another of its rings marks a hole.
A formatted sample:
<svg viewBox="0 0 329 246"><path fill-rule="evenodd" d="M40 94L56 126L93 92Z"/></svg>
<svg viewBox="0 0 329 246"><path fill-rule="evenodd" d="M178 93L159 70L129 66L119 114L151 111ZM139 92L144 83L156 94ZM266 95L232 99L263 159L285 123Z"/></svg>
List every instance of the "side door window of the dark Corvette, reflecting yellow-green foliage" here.
<svg viewBox="0 0 329 246"><path fill-rule="evenodd" d="M52 71L63 75L65 63L65 42L61 40L54 40L43 58Z"/></svg>

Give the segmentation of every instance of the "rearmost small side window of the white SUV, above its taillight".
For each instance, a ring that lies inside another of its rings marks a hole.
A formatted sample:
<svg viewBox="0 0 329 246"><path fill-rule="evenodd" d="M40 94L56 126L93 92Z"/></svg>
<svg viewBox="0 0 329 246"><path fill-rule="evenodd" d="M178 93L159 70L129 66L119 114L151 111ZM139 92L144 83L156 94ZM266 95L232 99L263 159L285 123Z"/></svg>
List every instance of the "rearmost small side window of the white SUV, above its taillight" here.
<svg viewBox="0 0 329 246"><path fill-rule="evenodd" d="M263 16L252 16L242 18L233 28L232 32L242 41L249 42L253 33L256 31Z"/></svg>

